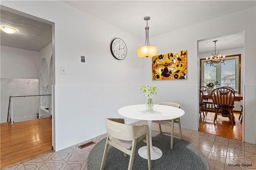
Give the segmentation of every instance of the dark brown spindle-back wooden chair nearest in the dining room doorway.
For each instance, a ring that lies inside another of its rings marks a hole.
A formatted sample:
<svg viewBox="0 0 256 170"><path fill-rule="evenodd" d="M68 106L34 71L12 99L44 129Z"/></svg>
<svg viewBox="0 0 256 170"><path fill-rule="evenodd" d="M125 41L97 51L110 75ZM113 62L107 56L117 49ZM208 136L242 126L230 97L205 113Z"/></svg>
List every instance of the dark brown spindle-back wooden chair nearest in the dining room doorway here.
<svg viewBox="0 0 256 170"><path fill-rule="evenodd" d="M233 115L234 90L230 87L220 87L214 89L211 95L215 107L214 123L218 115L227 115L232 125L236 124Z"/></svg>

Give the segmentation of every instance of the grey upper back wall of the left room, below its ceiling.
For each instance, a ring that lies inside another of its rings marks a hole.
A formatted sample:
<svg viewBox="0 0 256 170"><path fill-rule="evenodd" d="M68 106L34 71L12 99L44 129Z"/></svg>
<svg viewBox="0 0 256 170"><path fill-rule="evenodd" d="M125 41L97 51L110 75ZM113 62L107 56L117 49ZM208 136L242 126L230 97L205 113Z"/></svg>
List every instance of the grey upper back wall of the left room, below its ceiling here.
<svg viewBox="0 0 256 170"><path fill-rule="evenodd" d="M38 79L39 53L1 45L1 78Z"/></svg>

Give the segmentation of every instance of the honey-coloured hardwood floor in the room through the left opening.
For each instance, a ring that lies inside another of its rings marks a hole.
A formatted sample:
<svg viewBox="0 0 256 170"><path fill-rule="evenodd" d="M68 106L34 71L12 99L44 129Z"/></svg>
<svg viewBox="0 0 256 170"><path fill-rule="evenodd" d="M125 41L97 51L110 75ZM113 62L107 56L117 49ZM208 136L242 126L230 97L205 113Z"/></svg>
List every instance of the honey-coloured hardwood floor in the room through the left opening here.
<svg viewBox="0 0 256 170"><path fill-rule="evenodd" d="M1 168L52 150L52 118L1 124Z"/></svg>

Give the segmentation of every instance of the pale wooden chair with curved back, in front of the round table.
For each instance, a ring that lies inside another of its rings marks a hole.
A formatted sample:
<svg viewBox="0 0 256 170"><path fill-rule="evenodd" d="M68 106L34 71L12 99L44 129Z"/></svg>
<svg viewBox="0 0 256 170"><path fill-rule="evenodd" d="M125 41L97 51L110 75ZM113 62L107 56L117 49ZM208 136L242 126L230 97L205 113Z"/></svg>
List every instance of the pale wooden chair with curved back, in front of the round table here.
<svg viewBox="0 0 256 170"><path fill-rule="evenodd" d="M148 169L151 169L150 134L147 125L125 125L123 118L105 118L105 124L108 136L106 137L101 170L104 169L109 145L130 155L128 169L132 170L135 148L139 141L143 141L147 145L147 163Z"/></svg>

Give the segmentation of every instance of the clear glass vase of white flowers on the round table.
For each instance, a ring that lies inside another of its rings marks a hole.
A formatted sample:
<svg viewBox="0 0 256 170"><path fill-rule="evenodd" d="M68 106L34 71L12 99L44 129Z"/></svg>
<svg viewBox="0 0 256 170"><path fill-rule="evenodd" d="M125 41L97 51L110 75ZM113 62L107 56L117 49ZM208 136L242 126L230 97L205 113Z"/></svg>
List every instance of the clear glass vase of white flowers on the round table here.
<svg viewBox="0 0 256 170"><path fill-rule="evenodd" d="M141 90L143 91L144 96L146 96L146 110L152 111L154 107L153 103L153 95L157 94L157 87L156 86L141 86Z"/></svg>

